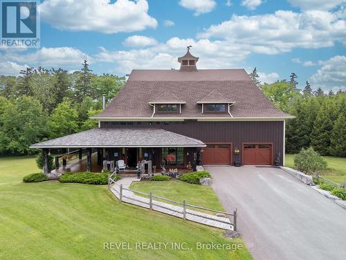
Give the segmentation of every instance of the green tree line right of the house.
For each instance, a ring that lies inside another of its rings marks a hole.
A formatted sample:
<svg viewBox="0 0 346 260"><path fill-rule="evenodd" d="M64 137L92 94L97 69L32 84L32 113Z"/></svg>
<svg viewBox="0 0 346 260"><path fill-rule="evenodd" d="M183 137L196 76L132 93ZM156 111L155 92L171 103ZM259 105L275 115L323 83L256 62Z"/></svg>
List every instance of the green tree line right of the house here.
<svg viewBox="0 0 346 260"><path fill-rule="evenodd" d="M286 153L313 147L320 155L346 157L345 92L326 94L320 87L313 91L308 81L300 90L295 73L273 84L261 84L256 68L250 76L280 110L295 116L286 121Z"/></svg>

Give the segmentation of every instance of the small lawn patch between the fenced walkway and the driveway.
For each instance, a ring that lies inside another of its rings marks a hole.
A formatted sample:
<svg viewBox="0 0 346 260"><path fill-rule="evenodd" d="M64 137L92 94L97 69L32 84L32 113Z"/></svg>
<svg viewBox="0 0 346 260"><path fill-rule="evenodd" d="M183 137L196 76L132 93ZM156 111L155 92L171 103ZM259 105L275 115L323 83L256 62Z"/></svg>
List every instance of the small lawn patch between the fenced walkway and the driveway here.
<svg viewBox="0 0 346 260"><path fill-rule="evenodd" d="M132 182L130 189L186 203L223 211L223 207L211 187L188 184L179 180L165 182ZM138 194L139 195L139 194ZM206 200L208 198L208 200Z"/></svg>

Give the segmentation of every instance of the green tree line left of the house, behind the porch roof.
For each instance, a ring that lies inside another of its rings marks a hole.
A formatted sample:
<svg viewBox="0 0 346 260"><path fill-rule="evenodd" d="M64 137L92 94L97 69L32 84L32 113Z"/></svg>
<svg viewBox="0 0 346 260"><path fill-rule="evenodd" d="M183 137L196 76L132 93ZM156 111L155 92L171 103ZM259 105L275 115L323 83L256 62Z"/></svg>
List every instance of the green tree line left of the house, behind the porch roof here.
<svg viewBox="0 0 346 260"><path fill-rule="evenodd" d="M102 110L124 77L98 76L84 61L80 71L27 68L0 76L0 155L33 153L30 144L97 127L89 116Z"/></svg>

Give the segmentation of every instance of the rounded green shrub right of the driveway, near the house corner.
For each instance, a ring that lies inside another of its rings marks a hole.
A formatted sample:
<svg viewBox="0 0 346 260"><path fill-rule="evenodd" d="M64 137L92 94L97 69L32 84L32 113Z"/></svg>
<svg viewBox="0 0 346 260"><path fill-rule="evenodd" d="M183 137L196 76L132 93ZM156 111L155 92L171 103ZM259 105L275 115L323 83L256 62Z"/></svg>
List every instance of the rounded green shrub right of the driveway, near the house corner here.
<svg viewBox="0 0 346 260"><path fill-rule="evenodd" d="M309 171L320 171L327 168L327 161L319 155L312 147L300 150L294 156L294 166L299 171L308 173Z"/></svg>

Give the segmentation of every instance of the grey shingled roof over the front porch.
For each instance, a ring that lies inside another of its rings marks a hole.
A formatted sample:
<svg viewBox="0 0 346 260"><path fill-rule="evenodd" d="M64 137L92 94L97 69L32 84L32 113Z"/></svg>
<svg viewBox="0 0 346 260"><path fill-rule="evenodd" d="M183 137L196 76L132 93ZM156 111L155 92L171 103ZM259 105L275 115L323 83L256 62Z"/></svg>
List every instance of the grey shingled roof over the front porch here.
<svg viewBox="0 0 346 260"><path fill-rule="evenodd" d="M206 147L202 141L161 128L95 128L33 144L30 148Z"/></svg>

